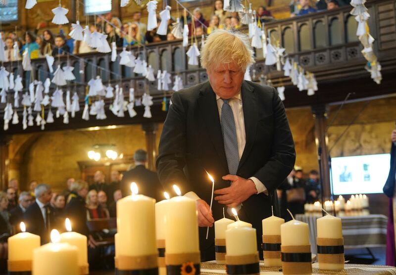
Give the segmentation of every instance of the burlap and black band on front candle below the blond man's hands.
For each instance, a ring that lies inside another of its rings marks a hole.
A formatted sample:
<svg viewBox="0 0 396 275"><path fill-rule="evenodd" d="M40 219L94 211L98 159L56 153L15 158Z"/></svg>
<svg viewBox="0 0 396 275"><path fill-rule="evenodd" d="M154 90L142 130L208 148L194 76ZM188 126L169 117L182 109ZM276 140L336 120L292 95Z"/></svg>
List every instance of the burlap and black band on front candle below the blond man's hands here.
<svg viewBox="0 0 396 275"><path fill-rule="evenodd" d="M229 256L226 255L226 271L228 275L260 274L258 252L256 254Z"/></svg>

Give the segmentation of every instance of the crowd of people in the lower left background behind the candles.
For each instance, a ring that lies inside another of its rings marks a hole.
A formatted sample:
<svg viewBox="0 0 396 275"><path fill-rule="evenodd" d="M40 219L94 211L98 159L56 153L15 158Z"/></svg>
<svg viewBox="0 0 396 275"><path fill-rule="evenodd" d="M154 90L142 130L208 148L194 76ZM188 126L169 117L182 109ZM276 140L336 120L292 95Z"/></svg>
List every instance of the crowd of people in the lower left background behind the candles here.
<svg viewBox="0 0 396 275"><path fill-rule="evenodd" d="M7 258L7 239L20 231L24 222L26 231L41 237L42 244L49 242L51 229L65 231L65 219L69 218L73 231L88 237L90 259L98 260L97 241L105 234L115 232L91 231L88 221L116 217L116 203L131 194L131 182L139 183L142 193L162 200L163 188L155 172L146 169L147 152L135 152L134 168L121 174L111 171L110 182L105 182L102 171L95 172L93 182L69 178L65 189L52 191L49 184L31 181L28 190L21 191L17 179L11 179L8 188L0 191L0 266ZM0 267L1 268L1 267Z"/></svg>

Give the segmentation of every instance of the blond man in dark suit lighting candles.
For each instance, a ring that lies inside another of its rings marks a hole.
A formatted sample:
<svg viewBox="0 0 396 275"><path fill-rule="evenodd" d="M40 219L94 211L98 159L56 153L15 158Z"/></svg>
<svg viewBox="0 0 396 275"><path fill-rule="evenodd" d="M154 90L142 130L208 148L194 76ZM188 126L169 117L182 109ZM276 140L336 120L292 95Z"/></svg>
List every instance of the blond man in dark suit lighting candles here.
<svg viewBox="0 0 396 275"><path fill-rule="evenodd" d="M271 206L278 214L276 188L295 164L293 137L278 93L244 81L252 56L246 35L211 33L201 50L209 80L173 94L161 135L159 179L164 186L180 184L186 196L197 200L204 261L215 255L214 230L206 240L205 227L223 217L223 207L237 208L260 242L261 220L272 214ZM212 212L205 170L215 179Z"/></svg>

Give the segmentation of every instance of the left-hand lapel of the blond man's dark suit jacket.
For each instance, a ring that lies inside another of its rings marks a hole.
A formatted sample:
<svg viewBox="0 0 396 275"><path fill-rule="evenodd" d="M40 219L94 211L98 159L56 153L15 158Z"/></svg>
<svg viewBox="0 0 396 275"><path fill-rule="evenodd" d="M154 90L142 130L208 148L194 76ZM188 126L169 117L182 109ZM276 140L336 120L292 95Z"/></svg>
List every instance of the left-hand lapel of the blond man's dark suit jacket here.
<svg viewBox="0 0 396 275"><path fill-rule="evenodd" d="M223 134L221 132L221 124L219 111L216 102L216 94L213 92L209 81L202 86L200 97L198 98L199 113L202 115L207 133L211 137L211 141L219 155L219 160L228 171L226 154L224 151Z"/></svg>

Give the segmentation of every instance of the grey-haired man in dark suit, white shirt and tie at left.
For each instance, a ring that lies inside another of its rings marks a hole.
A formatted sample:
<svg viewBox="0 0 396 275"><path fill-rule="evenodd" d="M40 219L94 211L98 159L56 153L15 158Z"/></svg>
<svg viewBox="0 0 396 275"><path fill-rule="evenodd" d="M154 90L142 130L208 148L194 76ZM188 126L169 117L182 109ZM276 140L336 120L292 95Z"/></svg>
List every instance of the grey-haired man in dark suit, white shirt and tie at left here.
<svg viewBox="0 0 396 275"><path fill-rule="evenodd" d="M42 183L34 189L36 201L28 207L23 217L26 231L39 235L41 243L49 242L51 229L55 227L56 217L54 209L49 205L52 197L51 187Z"/></svg>

